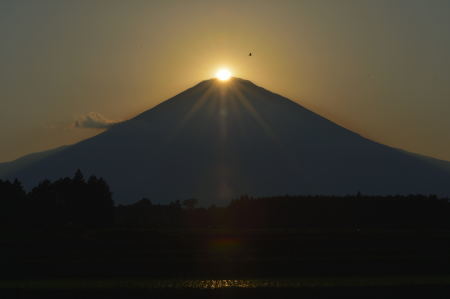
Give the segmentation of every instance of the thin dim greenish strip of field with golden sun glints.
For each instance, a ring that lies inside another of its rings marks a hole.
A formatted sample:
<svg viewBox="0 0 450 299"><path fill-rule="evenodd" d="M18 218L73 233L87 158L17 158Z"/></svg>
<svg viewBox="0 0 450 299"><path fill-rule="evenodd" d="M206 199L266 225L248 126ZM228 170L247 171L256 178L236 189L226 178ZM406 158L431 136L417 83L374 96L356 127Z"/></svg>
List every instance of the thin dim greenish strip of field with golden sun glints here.
<svg viewBox="0 0 450 299"><path fill-rule="evenodd" d="M450 276L298 277L264 279L65 278L3 280L0 289L261 289L450 286Z"/></svg>

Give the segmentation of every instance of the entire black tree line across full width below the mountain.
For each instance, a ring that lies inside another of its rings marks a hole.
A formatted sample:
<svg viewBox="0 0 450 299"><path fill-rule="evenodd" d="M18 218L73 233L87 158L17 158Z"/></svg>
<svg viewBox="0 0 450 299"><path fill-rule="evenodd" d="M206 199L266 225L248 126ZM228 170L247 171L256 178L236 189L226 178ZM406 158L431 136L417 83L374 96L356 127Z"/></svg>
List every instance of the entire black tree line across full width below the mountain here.
<svg viewBox="0 0 450 299"><path fill-rule="evenodd" d="M80 170L26 192L0 180L0 224L8 228L450 228L450 204L434 195L241 196L226 207L195 198L115 206L108 184Z"/></svg>

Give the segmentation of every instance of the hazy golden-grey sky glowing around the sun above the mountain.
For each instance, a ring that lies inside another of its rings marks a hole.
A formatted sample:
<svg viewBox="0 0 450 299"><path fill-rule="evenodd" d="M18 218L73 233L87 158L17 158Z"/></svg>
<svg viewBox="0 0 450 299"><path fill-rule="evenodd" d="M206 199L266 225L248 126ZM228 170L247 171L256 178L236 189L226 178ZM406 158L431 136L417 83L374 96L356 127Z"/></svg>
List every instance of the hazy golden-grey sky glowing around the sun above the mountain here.
<svg viewBox="0 0 450 299"><path fill-rule="evenodd" d="M75 121L125 120L220 66L450 160L450 1L0 0L0 161L98 134Z"/></svg>

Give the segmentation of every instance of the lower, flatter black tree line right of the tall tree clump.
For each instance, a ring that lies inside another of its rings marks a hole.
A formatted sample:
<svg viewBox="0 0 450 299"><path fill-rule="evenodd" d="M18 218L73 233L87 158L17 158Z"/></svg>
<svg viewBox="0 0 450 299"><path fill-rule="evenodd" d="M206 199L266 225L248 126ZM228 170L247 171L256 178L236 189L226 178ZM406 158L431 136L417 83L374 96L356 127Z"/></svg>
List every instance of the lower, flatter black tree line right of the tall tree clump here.
<svg viewBox="0 0 450 299"><path fill-rule="evenodd" d="M450 228L448 199L436 196L242 196L227 207L188 208L148 199L115 209L124 227Z"/></svg>

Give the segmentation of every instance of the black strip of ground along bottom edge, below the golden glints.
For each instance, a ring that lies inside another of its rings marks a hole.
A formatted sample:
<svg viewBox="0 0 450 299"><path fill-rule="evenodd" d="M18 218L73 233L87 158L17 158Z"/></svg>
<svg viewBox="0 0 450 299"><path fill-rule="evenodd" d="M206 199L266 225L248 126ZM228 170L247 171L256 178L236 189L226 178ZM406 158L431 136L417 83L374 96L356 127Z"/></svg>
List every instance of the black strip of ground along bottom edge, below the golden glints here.
<svg viewBox="0 0 450 299"><path fill-rule="evenodd" d="M113 290L14 290L2 292L5 298L448 298L447 286L402 287L315 287L284 289L113 289Z"/></svg>

